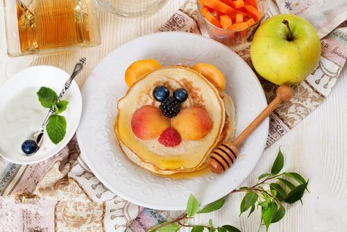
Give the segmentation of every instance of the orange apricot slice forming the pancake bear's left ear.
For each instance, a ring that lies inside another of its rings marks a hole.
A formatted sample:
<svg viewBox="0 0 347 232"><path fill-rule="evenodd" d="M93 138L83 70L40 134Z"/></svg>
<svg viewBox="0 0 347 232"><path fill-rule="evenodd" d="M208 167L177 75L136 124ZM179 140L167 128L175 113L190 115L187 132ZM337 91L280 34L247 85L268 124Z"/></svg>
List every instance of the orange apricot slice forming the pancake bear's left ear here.
<svg viewBox="0 0 347 232"><path fill-rule="evenodd" d="M137 60L126 69L125 80L126 85L130 87L144 74L149 73L155 69L162 67L162 65L154 59Z"/></svg>

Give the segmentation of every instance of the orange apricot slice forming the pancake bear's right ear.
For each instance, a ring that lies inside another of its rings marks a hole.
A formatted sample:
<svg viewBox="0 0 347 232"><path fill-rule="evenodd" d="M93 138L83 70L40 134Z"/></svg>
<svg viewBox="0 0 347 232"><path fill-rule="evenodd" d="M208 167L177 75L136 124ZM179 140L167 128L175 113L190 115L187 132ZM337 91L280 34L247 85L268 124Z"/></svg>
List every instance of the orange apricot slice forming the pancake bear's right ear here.
<svg viewBox="0 0 347 232"><path fill-rule="evenodd" d="M219 92L226 88L226 78L217 67L206 63L197 63L192 69L208 79Z"/></svg>

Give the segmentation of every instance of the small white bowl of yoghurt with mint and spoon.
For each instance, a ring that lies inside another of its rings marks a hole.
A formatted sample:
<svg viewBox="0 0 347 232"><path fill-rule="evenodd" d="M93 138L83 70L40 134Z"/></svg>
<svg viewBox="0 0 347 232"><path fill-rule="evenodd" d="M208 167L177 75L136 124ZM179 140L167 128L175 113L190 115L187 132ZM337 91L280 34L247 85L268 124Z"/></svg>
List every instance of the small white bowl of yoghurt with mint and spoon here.
<svg viewBox="0 0 347 232"><path fill-rule="evenodd" d="M24 156L21 144L33 139L33 133L40 129L47 108L37 100L36 92L48 87L60 93L69 74L51 66L34 66L12 76L0 90L0 155L12 163L31 164L57 154L71 140L81 118L82 98L76 82L73 82L62 99L69 101L62 113L67 119L67 133L59 144L53 144L44 133L39 151L33 156Z"/></svg>

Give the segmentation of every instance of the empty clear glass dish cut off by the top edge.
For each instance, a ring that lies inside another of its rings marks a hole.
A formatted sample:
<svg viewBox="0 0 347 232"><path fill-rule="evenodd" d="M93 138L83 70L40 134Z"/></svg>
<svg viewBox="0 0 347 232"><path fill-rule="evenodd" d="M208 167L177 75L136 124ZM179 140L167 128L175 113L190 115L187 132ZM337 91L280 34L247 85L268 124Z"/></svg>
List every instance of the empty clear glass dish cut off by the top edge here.
<svg viewBox="0 0 347 232"><path fill-rule="evenodd" d="M103 8L115 15L138 17L159 10L167 0L99 0Z"/></svg>

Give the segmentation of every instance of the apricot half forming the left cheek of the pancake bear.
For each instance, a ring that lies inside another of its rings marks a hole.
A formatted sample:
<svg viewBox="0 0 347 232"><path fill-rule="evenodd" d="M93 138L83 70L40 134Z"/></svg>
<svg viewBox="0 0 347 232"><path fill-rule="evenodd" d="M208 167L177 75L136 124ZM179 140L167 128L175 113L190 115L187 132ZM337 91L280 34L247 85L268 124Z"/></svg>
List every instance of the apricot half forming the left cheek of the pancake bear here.
<svg viewBox="0 0 347 232"><path fill-rule="evenodd" d="M131 117L131 129L137 138L151 140L158 138L170 127L170 119L154 106L142 106Z"/></svg>

